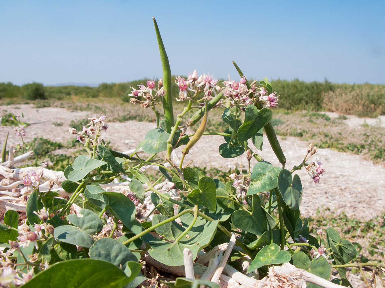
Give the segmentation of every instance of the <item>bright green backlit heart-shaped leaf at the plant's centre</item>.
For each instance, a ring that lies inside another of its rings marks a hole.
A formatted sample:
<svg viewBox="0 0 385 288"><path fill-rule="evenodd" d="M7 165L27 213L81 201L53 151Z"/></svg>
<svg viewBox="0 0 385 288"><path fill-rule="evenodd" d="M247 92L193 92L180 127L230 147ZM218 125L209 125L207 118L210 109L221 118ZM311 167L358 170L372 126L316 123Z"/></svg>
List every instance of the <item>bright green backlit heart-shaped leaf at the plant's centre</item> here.
<svg viewBox="0 0 385 288"><path fill-rule="evenodd" d="M216 185L213 179L208 176L203 176L199 179L198 188L192 190L187 199L194 205L202 205L210 211L216 209Z"/></svg>

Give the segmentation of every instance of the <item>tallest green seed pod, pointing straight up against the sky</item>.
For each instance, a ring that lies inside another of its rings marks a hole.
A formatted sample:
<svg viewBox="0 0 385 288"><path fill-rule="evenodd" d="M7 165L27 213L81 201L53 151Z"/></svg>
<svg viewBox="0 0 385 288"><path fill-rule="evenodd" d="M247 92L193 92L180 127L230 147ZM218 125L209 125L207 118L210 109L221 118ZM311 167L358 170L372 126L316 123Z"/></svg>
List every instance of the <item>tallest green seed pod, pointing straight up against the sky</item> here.
<svg viewBox="0 0 385 288"><path fill-rule="evenodd" d="M166 89L166 94L162 97L164 119L166 120L166 131L171 133L171 127L174 126L174 112L172 110L172 93L171 93L171 69L168 61L166 49L164 49L161 33L155 18L154 27L156 32L156 39L158 40L159 53L161 55L162 69L163 69L163 87Z"/></svg>

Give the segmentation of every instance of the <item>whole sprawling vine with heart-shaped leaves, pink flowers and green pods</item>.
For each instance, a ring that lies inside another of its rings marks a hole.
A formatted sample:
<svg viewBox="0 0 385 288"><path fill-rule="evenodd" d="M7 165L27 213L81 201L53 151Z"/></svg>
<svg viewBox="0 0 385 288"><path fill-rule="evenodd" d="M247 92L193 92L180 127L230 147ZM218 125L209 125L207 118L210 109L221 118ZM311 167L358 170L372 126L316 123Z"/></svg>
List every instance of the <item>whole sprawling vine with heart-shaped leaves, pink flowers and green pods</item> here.
<svg viewBox="0 0 385 288"><path fill-rule="evenodd" d="M349 284L348 267L362 271L362 267L371 266L380 273L383 263L351 263L356 249L335 229L318 230L318 242L309 231L307 219L300 217L304 192L294 172L306 169L317 184L325 170L320 157L314 157L317 148L312 145L307 151L304 148L305 157L298 166L285 169L286 158L271 125L271 108L277 106L278 96L268 79L249 83L235 63L239 81L229 77L221 86L210 74L198 76L197 70L187 79L171 79L155 19L154 25L163 78L157 87L154 80L147 80L147 86L132 88L129 95L131 103L154 110L157 128L146 133L131 155L107 149L100 134L108 128L105 115L89 118L82 131L70 128L88 153L78 156L64 170L66 180L61 186L70 197L63 199L55 191L41 193L39 173L23 179L31 192L27 219L18 227L18 213L8 210L1 225L1 242L6 247L1 254L1 285L133 288L146 280L140 260L147 253L162 265L184 265L184 248L191 250L194 260L201 250L208 252L229 242L232 233L236 233L238 248L228 264L242 272L240 259L246 259L244 273L254 272L259 278L268 273L269 266L288 262L326 280L334 267L339 277L333 281L343 285ZM172 80L179 87L176 100L186 104L176 118ZM225 131L205 132L213 109L223 109L222 120L228 125ZM187 119L189 111L195 113ZM187 127L194 125L199 125L197 131L187 135ZM258 162L252 169L249 164L246 174L228 175L227 183L208 176L199 178L183 160L191 147L208 134L223 136L218 153L224 158L244 154L249 163L252 158ZM282 167L259 156L263 134ZM173 152L179 146L181 159ZM154 167L161 174L149 180L146 171ZM119 177L131 180L129 192L107 192L103 188ZM73 204L82 209L74 213ZM272 275L277 268L274 271ZM183 287L218 287L197 281L186 280ZM308 286L315 287L312 283Z"/></svg>

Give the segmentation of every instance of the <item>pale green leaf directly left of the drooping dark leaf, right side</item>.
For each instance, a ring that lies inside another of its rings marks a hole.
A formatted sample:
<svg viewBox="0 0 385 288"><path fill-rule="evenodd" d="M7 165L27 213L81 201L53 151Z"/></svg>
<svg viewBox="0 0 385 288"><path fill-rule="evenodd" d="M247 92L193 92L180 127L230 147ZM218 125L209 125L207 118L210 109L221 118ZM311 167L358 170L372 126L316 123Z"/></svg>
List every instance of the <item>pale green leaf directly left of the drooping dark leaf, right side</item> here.
<svg viewBox="0 0 385 288"><path fill-rule="evenodd" d="M247 195L272 190L278 186L278 173L282 169L266 161L259 161L251 172L251 182Z"/></svg>

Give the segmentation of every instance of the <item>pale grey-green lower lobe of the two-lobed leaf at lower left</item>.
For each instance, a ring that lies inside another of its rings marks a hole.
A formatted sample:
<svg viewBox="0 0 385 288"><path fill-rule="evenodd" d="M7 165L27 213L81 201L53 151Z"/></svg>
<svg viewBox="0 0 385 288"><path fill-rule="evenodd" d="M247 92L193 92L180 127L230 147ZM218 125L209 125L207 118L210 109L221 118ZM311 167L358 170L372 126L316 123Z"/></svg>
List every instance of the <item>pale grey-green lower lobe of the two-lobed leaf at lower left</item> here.
<svg viewBox="0 0 385 288"><path fill-rule="evenodd" d="M55 240L86 248L90 248L94 243L94 240L88 233L71 225L63 225L55 228L54 237Z"/></svg>

